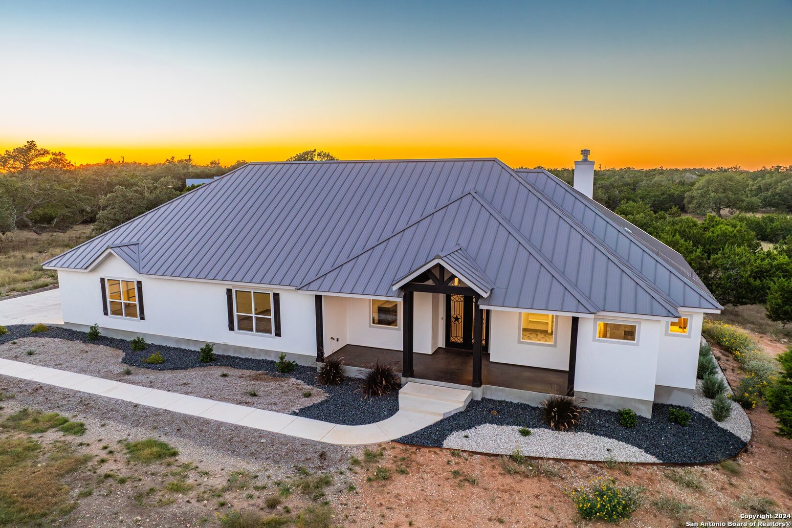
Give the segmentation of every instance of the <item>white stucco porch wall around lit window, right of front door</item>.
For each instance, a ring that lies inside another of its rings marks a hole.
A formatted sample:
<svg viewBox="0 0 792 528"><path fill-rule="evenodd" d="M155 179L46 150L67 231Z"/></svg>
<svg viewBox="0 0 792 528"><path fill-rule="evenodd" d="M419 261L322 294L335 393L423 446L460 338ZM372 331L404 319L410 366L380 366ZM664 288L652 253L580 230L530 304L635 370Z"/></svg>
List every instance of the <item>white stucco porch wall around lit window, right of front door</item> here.
<svg viewBox="0 0 792 528"><path fill-rule="evenodd" d="M555 343L528 344L520 341L520 312L491 310L489 321L489 360L555 370L569 369L569 342L572 317L557 316Z"/></svg>

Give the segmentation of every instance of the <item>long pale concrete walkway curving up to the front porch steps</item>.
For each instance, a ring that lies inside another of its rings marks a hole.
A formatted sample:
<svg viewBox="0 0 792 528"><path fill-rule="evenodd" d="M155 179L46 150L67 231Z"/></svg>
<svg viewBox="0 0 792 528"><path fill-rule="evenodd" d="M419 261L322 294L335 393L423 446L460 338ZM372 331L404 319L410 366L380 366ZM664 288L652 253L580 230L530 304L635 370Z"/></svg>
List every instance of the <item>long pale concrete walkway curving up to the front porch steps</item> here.
<svg viewBox="0 0 792 528"><path fill-rule="evenodd" d="M362 446L398 439L463 410L470 401L469 390L410 382L399 393L399 410L394 416L376 424L338 425L10 359L0 359L0 374L338 446Z"/></svg>

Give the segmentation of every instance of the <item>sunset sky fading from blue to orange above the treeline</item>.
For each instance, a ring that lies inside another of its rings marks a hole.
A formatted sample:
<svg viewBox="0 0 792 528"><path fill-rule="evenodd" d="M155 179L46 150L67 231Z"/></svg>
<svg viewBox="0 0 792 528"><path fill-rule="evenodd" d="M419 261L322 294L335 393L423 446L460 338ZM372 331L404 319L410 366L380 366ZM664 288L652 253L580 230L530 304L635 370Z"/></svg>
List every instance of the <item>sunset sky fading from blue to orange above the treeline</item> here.
<svg viewBox="0 0 792 528"><path fill-rule="evenodd" d="M792 165L792 2L10 2L0 151Z"/></svg>

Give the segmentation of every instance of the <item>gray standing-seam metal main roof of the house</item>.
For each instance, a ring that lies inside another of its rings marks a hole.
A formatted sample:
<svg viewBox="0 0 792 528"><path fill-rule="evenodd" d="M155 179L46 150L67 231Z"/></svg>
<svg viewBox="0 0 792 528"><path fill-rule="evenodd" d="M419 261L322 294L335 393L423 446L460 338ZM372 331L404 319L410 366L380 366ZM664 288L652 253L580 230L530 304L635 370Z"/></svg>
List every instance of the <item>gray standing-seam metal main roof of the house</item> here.
<svg viewBox="0 0 792 528"><path fill-rule="evenodd" d="M601 215L578 219L584 196L559 200L545 185L491 158L250 163L44 264L86 269L123 245L116 253L145 275L392 297L399 277L443 255L491 290L489 306L719 308L678 264L616 240Z"/></svg>

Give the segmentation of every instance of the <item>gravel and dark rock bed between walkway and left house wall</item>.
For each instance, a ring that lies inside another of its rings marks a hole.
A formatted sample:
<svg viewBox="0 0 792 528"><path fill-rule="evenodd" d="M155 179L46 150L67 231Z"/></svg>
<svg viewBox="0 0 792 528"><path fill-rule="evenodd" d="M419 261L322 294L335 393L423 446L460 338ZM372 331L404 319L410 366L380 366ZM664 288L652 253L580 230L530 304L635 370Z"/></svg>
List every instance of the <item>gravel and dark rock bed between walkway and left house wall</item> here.
<svg viewBox="0 0 792 528"><path fill-rule="evenodd" d="M292 412L333 424L372 424L398 411L398 391L364 398L356 391L359 380L347 378L341 385L322 386L314 367L295 365L291 372L281 373L277 362L270 359L221 354L216 354L211 362L201 363L200 352L186 348L148 344L146 349L135 351L128 340L99 336L90 341L86 332L51 326L46 332L31 333L31 328L9 326L8 333L0 336L0 357L238 405ZM41 345L34 346L41 339ZM10 344L11 341L17 344ZM74 343L74 348L66 342ZM39 348L41 353L36 354ZM26 355L27 350L34 354ZM162 363L144 363L157 351ZM131 374L124 374L125 365L132 367ZM223 373L227 377L221 377Z"/></svg>

